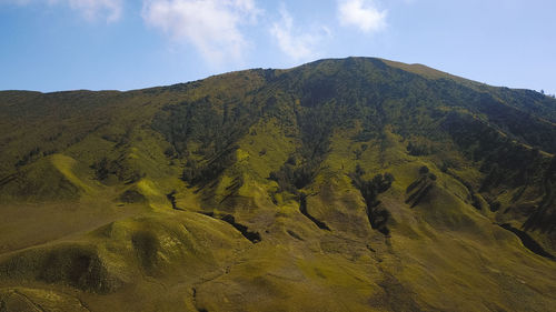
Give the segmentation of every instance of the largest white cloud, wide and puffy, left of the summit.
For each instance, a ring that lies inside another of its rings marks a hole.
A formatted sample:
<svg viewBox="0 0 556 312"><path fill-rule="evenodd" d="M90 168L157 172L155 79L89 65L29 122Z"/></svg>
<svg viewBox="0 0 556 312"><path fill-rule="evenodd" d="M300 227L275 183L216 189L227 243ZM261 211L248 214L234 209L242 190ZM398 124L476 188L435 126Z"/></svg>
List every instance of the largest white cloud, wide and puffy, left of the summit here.
<svg viewBox="0 0 556 312"><path fill-rule="evenodd" d="M177 42L196 47L203 58L219 64L225 58L241 60L249 46L242 23L260 14L254 0L145 0L142 18Z"/></svg>

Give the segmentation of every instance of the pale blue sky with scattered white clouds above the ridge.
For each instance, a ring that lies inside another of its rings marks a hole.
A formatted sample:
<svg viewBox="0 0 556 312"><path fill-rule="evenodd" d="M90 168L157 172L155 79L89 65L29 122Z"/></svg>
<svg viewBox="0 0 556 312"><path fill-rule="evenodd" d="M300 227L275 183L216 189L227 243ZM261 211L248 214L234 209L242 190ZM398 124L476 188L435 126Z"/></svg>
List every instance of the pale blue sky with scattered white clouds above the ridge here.
<svg viewBox="0 0 556 312"><path fill-rule="evenodd" d="M0 0L0 90L131 90L345 57L556 93L556 1Z"/></svg>

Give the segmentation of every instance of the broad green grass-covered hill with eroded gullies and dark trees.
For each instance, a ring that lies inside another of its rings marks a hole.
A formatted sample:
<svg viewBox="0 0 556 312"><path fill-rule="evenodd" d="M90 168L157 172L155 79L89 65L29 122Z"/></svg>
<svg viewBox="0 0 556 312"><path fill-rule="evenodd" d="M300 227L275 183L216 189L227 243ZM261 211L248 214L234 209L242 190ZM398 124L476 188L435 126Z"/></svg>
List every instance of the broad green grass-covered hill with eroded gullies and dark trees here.
<svg viewBox="0 0 556 312"><path fill-rule="evenodd" d="M3 91L0 147L0 311L556 311L535 91L369 58Z"/></svg>

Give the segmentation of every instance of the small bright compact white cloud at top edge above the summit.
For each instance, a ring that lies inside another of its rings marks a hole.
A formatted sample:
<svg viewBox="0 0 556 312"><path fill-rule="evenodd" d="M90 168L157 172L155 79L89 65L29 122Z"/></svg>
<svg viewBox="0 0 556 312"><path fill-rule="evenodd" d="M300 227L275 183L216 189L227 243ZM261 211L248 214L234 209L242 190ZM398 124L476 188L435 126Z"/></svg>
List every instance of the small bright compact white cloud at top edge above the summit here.
<svg viewBox="0 0 556 312"><path fill-rule="evenodd" d="M380 11L373 0L339 0L338 18L341 26L357 27L363 32L386 28L387 11Z"/></svg>

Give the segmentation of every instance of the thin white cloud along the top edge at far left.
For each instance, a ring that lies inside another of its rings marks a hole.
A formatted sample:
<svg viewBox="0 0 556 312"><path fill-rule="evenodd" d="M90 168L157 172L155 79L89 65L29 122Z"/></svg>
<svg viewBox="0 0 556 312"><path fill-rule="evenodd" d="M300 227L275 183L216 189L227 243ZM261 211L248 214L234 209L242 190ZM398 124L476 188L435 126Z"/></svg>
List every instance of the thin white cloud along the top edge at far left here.
<svg viewBox="0 0 556 312"><path fill-rule="evenodd" d="M106 19L107 22L119 20L123 7L123 0L0 0L0 3L19 6L33 3L64 4L79 11L89 21Z"/></svg>

